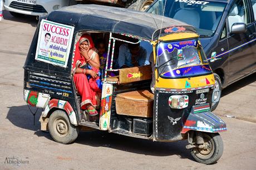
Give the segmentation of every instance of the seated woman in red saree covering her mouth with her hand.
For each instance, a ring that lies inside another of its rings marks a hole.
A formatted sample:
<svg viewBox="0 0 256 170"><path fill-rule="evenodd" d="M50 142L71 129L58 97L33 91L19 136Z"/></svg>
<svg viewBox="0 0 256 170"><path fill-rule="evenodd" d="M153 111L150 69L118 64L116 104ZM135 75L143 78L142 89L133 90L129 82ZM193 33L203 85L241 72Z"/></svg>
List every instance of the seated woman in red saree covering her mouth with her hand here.
<svg viewBox="0 0 256 170"><path fill-rule="evenodd" d="M90 116L98 114L95 109L98 104L95 96L97 92L101 92L96 84L96 79L99 79L97 75L99 68L100 59L92 38L88 34L83 34L76 43L72 73L76 89L82 99L81 109L85 110ZM91 76L90 80L87 78L88 76Z"/></svg>

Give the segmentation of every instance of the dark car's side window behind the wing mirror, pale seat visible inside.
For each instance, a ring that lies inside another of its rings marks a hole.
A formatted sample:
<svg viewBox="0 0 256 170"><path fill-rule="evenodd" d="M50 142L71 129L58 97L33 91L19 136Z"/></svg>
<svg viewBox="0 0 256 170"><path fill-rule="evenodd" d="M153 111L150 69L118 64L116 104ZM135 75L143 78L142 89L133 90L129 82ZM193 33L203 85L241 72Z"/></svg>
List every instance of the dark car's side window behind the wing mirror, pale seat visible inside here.
<svg viewBox="0 0 256 170"><path fill-rule="evenodd" d="M244 6L243 0L238 0L233 4L229 12L228 23L229 31L231 30L231 27L234 23L248 23L248 12Z"/></svg>

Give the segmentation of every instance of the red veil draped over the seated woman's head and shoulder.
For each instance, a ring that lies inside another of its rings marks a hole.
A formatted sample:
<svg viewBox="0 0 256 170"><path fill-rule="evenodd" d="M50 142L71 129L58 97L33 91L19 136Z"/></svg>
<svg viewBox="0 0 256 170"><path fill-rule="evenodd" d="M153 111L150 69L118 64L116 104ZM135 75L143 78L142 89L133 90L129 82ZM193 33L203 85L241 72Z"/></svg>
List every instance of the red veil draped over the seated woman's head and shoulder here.
<svg viewBox="0 0 256 170"><path fill-rule="evenodd" d="M92 38L89 34L83 34L79 41L76 43L76 51L75 51L75 57L74 57L74 61L72 64L72 71L74 72L76 70L76 68L80 65L85 63L85 58L81 55L80 53L80 44L87 41L89 48L92 49L94 48L94 43L92 41Z"/></svg>

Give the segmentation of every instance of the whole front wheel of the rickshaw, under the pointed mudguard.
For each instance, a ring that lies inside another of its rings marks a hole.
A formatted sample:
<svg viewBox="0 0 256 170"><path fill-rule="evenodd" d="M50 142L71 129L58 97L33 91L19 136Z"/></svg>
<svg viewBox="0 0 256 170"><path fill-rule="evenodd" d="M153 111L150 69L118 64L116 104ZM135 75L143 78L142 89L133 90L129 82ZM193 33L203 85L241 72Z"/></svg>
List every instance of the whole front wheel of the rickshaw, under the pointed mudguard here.
<svg viewBox="0 0 256 170"><path fill-rule="evenodd" d="M219 133L203 133L204 148L191 149L193 158L204 164L215 163L223 154L223 141Z"/></svg>

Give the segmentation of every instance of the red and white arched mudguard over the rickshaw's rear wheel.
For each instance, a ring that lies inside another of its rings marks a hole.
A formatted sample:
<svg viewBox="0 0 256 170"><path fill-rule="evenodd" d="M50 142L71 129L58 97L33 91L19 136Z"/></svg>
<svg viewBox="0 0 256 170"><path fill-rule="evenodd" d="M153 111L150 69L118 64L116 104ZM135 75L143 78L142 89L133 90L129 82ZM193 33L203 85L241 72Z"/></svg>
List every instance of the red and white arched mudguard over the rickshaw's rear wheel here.
<svg viewBox="0 0 256 170"><path fill-rule="evenodd" d="M77 125L76 114L70 103L59 99L51 99L51 101L46 105L45 111L42 112L42 117L46 117L52 108L64 109L70 118L70 123Z"/></svg>

